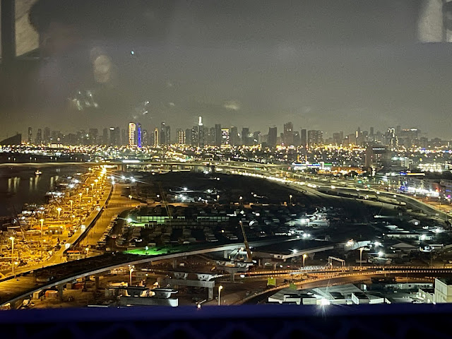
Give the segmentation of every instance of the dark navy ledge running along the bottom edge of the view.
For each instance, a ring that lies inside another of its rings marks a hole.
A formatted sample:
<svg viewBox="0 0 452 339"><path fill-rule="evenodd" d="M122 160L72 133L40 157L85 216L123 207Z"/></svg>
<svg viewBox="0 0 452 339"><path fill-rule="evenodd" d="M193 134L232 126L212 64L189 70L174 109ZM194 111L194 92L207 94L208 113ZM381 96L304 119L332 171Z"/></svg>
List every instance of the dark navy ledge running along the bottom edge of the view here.
<svg viewBox="0 0 452 339"><path fill-rule="evenodd" d="M33 309L2 338L451 338L452 304Z"/></svg>

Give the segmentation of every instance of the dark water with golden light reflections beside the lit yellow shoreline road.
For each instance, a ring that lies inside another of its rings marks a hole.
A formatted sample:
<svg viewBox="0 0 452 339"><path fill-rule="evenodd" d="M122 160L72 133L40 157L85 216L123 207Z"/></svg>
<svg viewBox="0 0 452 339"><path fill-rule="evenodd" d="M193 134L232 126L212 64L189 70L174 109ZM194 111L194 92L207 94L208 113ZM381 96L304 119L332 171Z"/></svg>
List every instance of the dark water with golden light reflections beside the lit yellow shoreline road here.
<svg viewBox="0 0 452 339"><path fill-rule="evenodd" d="M0 217L20 213L25 203L42 204L45 194L52 191L61 177L85 172L85 167L8 167L0 169Z"/></svg>

